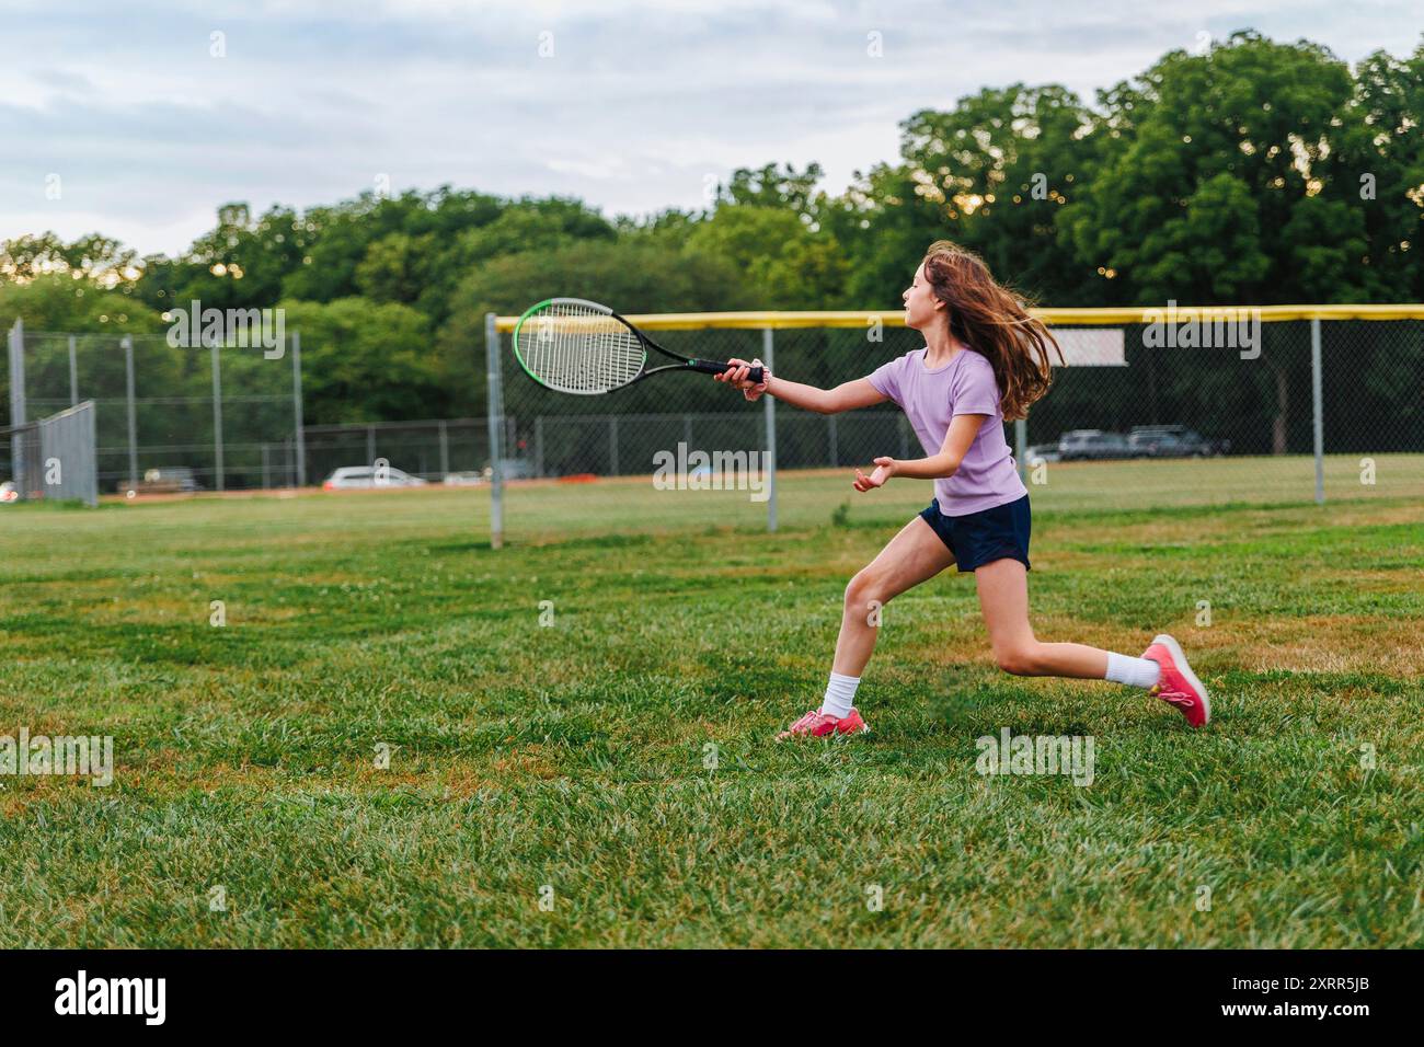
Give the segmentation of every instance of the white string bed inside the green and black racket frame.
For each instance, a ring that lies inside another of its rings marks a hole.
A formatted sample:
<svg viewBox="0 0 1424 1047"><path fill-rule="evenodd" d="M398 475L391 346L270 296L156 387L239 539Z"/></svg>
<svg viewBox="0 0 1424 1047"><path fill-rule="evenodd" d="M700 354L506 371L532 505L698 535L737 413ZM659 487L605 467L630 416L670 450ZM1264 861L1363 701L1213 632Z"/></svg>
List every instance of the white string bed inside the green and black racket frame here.
<svg viewBox="0 0 1424 1047"><path fill-rule="evenodd" d="M642 372L642 342L619 321L577 302L551 302L520 339L524 366L550 389L602 393Z"/></svg>

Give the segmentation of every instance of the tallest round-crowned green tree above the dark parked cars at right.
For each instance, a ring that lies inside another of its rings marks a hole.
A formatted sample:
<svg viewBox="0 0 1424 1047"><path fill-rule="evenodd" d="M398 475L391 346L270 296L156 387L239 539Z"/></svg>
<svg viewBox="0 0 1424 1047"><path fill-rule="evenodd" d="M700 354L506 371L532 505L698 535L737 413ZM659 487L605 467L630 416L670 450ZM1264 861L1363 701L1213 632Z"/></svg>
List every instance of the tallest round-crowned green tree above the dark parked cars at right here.
<svg viewBox="0 0 1424 1047"><path fill-rule="evenodd" d="M1351 97L1349 67L1307 41L1236 33L1206 54L1172 51L1101 95L1119 108L1098 121L1106 134L1064 208L1064 235L1084 265L1115 275L1125 302L1265 305L1303 288L1358 301L1370 288L1364 215L1329 195L1341 188L1329 158ZM1270 349L1260 360L1269 373L1247 376L1274 400L1273 449L1284 453L1304 360ZM1209 372L1203 359L1196 375Z"/></svg>

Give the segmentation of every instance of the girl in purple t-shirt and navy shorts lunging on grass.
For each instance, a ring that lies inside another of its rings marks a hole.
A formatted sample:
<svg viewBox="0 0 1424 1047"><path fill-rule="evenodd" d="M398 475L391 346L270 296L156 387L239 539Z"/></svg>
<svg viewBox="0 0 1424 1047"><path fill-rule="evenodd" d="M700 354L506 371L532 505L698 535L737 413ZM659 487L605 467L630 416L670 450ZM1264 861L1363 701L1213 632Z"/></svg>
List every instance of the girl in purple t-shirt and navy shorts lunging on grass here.
<svg viewBox="0 0 1424 1047"><path fill-rule="evenodd" d="M850 580L820 708L778 741L870 729L853 701L876 645L874 611L950 564L974 574L994 658L1005 672L1131 684L1203 726L1210 698L1172 637L1156 637L1134 658L1084 644L1045 644L1028 624L1028 490L1004 440L1004 420L1027 417L1028 406L1048 392L1048 345L1058 349L1052 335L994 282L977 255L948 241L930 245L903 298L906 326L924 336L924 348L867 377L827 390L765 372L753 385L748 372L760 360L736 359L738 366L716 376L749 400L770 393L822 415L894 400L928 457L879 457L870 476L856 470L854 487L869 491L897 476L934 480L928 509Z"/></svg>

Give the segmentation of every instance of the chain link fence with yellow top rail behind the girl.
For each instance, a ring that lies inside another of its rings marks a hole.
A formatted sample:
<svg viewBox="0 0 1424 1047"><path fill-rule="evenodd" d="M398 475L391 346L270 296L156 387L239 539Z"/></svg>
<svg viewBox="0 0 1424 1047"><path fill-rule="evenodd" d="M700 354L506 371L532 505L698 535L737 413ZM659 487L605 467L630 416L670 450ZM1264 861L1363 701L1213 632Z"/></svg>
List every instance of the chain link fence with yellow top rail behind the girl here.
<svg viewBox="0 0 1424 1047"><path fill-rule="evenodd" d="M1068 365L1054 368L1054 386L1027 422L1007 424L1035 509L1424 496L1424 311L1279 319L1279 311L1243 309L1225 321L1136 311L1134 322L1121 312L1095 322L1101 312L1048 313ZM776 375L820 387L923 346L917 332L870 313L832 321L854 326L807 326L815 321L769 313L765 329L746 329L718 326L716 316L634 318L674 352L760 358ZM870 494L850 487L853 466L926 453L891 403L823 416L770 397L748 403L696 373L656 375L609 396L564 396L523 373L511 328L510 318L488 325L491 433L503 449L496 541L889 523L933 496L928 481L891 481ZM1116 353L1084 352L1112 345ZM745 481L718 469L718 456L723 464L745 459Z"/></svg>

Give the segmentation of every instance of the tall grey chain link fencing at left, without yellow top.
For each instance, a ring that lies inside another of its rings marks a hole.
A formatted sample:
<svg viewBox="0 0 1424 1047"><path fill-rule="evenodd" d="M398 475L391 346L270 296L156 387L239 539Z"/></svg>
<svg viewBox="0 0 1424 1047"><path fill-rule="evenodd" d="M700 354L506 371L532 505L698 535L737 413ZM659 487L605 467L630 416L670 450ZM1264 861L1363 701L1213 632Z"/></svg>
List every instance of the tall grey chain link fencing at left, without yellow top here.
<svg viewBox="0 0 1424 1047"><path fill-rule="evenodd" d="M474 483L490 473L484 419L302 424L296 333L278 350L189 348L167 335L16 323L9 359L11 417L93 402L103 493L296 487L377 463L430 481ZM14 467L0 457L0 480Z"/></svg>

